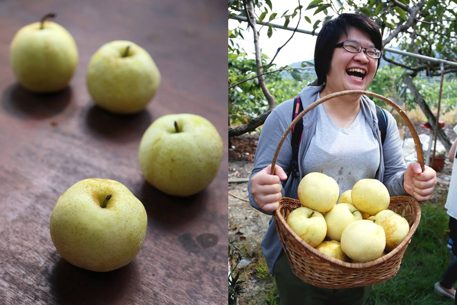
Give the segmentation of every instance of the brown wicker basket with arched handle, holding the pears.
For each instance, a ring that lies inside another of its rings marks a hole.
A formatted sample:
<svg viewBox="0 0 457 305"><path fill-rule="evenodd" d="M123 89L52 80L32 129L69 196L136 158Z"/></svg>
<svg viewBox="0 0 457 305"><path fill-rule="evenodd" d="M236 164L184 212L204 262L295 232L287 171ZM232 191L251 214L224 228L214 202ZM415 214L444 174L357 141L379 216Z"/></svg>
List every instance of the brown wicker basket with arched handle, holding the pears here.
<svg viewBox="0 0 457 305"><path fill-rule="evenodd" d="M274 172L276 159L281 149L281 145L286 139L287 134L292 127L303 117L309 110L316 107L322 102L331 98L349 94L364 94L375 96L388 104L390 104L397 112L400 113L407 123L409 130L414 139L414 144L417 152L417 160L424 171L424 153L420 144L420 139L414 128L413 123L409 120L408 116L403 110L394 102L390 101L384 96L361 90L341 91L324 96L318 101L309 105L304 109L297 118L295 118L290 126L287 128L282 136L281 141L276 149L271 166L271 174ZM377 258L371 262L364 263L349 263L343 262L336 258L329 257L324 253L314 249L298 237L295 232L287 225L285 219L287 215L293 210L300 207L300 202L296 199L283 197L279 201L279 208L273 213L276 230L282 247L289 259L292 267L292 272L303 281L314 286L342 289L351 287L368 286L372 284L383 283L395 276L400 268L401 260L406 251L406 247L411 241L411 237L417 229L420 221L420 205L419 202L412 196L396 196L390 198L388 209L393 210L397 214L404 216L409 223L409 234L406 236L399 246L390 251L383 257Z"/></svg>

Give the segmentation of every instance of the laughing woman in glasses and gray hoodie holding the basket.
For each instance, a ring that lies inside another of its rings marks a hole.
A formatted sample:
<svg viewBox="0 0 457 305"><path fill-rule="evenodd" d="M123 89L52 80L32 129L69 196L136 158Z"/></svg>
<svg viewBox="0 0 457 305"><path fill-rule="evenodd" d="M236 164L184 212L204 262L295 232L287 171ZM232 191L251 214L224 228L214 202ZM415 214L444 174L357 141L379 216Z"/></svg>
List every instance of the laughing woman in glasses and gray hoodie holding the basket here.
<svg viewBox="0 0 457 305"><path fill-rule="evenodd" d="M379 67L381 50L379 28L366 16L341 14L328 21L314 50L319 86L308 86L299 93L303 108L334 92L367 90ZM321 170L338 182L340 194L360 179L375 178L384 183L391 196L410 194L419 201L430 198L436 172L428 166L421 172L417 162L406 167L397 124L389 112L385 113L388 126L381 144L375 104L367 96L340 96L308 112L303 117L299 176L287 178L292 162L290 133L282 144L275 174L270 175L276 144L291 122L292 105L293 100L281 103L263 125L248 184L255 209L271 214L282 196L297 198L301 177ZM297 278L283 255L272 219L261 246L282 305L363 304L372 289L323 289Z"/></svg>

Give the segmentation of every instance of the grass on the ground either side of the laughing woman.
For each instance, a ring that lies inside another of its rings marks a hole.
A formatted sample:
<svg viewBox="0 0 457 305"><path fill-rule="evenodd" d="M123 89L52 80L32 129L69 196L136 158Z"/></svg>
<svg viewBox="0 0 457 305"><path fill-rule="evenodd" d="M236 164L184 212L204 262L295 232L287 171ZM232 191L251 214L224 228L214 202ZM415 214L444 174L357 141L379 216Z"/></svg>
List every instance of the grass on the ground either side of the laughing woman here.
<svg viewBox="0 0 457 305"><path fill-rule="evenodd" d="M446 193L444 194L444 196ZM436 198L434 203L422 203L420 225L406 249L397 275L382 284L374 285L366 305L451 305L453 301L435 294L434 284L441 279L451 257L446 247L449 216L444 202ZM263 293L249 292L242 304L279 305L274 278L268 273L260 249L250 248L239 241L243 255L252 255L252 262L244 268L240 278L256 279ZM243 274L244 273L244 274Z"/></svg>

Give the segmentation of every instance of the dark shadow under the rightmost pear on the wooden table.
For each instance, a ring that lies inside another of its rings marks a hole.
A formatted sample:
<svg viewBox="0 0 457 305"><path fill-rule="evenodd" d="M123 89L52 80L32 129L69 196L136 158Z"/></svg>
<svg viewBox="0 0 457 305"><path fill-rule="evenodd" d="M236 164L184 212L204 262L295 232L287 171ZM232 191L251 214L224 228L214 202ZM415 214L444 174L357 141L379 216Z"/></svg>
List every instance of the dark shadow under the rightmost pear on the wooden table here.
<svg viewBox="0 0 457 305"><path fill-rule="evenodd" d="M206 210L206 204L211 201L206 189L189 197L169 196L160 192L146 180L143 182L138 199L143 203L148 214L148 225L152 224L154 227L161 227L165 230L201 218L199 214ZM204 220L202 219L202 221Z"/></svg>

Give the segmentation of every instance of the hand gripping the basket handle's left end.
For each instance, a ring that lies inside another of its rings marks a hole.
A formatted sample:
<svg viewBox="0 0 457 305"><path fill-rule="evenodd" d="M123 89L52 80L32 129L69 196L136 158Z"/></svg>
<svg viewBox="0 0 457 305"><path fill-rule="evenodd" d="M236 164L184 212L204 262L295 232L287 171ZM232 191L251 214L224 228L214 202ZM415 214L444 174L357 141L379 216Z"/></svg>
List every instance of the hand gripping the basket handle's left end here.
<svg viewBox="0 0 457 305"><path fill-rule="evenodd" d="M251 178L251 194L257 206L265 212L271 213L279 207L282 194L281 180L287 175L281 166L275 165L275 174L270 175L271 164L256 173Z"/></svg>

